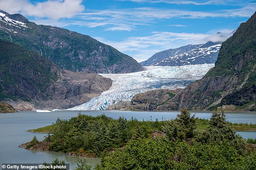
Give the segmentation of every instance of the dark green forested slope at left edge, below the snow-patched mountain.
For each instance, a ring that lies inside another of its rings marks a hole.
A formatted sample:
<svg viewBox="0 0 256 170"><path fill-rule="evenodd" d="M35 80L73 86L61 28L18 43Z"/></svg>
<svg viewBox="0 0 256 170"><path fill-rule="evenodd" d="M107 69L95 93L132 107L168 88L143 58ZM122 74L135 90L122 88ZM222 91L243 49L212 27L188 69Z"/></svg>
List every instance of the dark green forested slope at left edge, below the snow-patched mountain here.
<svg viewBox="0 0 256 170"><path fill-rule="evenodd" d="M0 47L0 100L29 101L58 79L58 68L50 60L2 40Z"/></svg>

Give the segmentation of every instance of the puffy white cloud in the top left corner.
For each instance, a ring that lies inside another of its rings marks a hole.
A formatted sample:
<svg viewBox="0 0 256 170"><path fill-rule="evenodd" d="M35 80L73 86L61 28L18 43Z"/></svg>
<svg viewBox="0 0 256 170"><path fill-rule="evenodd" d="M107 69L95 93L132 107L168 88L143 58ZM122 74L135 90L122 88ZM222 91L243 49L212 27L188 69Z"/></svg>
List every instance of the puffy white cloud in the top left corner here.
<svg viewBox="0 0 256 170"><path fill-rule="evenodd" d="M47 0L31 3L29 0L0 0L0 8L8 13L21 13L37 18L71 18L84 11L82 0Z"/></svg>

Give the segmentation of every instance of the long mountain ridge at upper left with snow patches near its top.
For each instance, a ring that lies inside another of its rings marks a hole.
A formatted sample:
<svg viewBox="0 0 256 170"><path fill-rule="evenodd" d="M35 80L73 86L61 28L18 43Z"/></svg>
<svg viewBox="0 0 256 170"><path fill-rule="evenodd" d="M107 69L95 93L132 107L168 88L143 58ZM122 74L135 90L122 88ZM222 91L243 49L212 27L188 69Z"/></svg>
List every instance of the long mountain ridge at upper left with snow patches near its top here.
<svg viewBox="0 0 256 170"><path fill-rule="evenodd" d="M47 25L36 25L20 14L0 10L0 38L49 58L62 69L96 73L143 70L136 60L88 35Z"/></svg>

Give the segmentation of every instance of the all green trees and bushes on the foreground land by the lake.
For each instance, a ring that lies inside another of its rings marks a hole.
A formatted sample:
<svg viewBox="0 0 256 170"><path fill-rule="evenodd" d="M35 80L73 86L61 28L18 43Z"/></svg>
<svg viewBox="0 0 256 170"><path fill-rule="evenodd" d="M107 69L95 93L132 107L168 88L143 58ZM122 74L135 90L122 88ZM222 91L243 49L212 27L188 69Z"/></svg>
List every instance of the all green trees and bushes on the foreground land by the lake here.
<svg viewBox="0 0 256 170"><path fill-rule="evenodd" d="M56 120L45 141L50 150L101 156L95 169L254 169L255 149L236 135L232 126L255 128L255 124L226 121L224 111L210 120L195 118L186 110L173 120L114 120L78 114ZM91 168L80 161L78 168Z"/></svg>

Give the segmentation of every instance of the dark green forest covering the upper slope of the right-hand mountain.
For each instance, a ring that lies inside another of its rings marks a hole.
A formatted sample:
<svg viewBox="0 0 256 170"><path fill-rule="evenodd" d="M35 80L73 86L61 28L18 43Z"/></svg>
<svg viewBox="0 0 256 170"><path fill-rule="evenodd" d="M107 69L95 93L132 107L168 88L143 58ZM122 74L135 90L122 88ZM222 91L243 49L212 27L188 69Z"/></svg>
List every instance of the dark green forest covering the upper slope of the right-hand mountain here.
<svg viewBox="0 0 256 170"><path fill-rule="evenodd" d="M219 76L223 74L234 75L236 72L242 72L244 75L252 71L256 64L256 14L247 22L241 23L232 37L222 43L218 59L214 69L206 74L208 76ZM246 56L247 55L247 56ZM239 61L242 66L239 70L235 66ZM244 62L244 63L243 63ZM255 71L252 75L255 75ZM245 77L243 77L245 78ZM251 76L248 85L255 84L255 77Z"/></svg>

